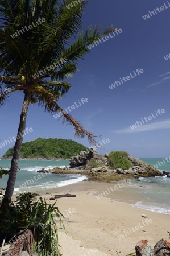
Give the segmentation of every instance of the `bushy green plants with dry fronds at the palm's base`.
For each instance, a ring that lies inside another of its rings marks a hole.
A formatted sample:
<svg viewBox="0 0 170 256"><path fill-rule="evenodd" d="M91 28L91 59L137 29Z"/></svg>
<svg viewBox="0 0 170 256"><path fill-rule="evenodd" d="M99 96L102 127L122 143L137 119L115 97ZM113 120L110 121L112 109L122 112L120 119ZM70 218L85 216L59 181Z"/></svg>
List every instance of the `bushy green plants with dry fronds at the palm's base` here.
<svg viewBox="0 0 170 256"><path fill-rule="evenodd" d="M36 193L21 193L16 197L15 205L3 205L0 208L0 243L12 243L9 255L20 255L27 250L29 255L34 251L39 256L59 256L57 225L53 214L60 226L63 226L64 216L54 204L47 204L40 197L36 200ZM53 213L53 214L52 214Z"/></svg>

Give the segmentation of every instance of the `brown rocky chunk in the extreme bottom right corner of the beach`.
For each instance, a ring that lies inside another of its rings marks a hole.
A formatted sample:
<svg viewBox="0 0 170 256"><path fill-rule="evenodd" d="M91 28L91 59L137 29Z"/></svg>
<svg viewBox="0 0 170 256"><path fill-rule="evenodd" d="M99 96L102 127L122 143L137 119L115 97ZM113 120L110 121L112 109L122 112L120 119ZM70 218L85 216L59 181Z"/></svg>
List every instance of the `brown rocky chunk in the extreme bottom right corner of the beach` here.
<svg viewBox="0 0 170 256"><path fill-rule="evenodd" d="M156 256L164 256L169 255L170 253L170 243L165 240L165 238L162 238L160 241L156 243L154 246L154 255Z"/></svg>

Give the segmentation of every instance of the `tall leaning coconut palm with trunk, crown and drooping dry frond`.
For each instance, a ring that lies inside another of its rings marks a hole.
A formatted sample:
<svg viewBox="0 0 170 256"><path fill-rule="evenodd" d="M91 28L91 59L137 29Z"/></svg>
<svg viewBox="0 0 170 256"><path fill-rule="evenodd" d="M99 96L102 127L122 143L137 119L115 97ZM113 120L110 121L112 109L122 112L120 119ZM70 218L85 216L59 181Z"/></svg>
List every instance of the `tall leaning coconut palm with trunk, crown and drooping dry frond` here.
<svg viewBox="0 0 170 256"><path fill-rule="evenodd" d="M68 6L72 5L72 7ZM85 130L57 104L71 89L69 79L78 71L78 60L90 50L88 46L113 32L113 25L86 27L82 30L85 1L72 0L0 0L0 105L10 93L24 94L18 135L11 160L5 197L11 199L28 106L38 103L49 114L62 112L63 123L74 126L77 137L94 135ZM52 67L53 66L53 67Z"/></svg>

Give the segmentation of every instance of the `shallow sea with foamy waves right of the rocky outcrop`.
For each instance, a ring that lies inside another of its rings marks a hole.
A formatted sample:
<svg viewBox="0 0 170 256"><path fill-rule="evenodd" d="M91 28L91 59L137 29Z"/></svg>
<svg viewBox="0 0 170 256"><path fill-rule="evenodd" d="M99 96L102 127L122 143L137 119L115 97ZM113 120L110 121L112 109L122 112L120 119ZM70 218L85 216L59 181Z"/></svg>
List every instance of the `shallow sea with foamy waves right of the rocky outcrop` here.
<svg viewBox="0 0 170 256"><path fill-rule="evenodd" d="M165 158L144 158L141 159L152 166L158 164L159 171L170 172L169 163ZM134 206L151 210L153 212L170 214L170 178L161 177L140 177L138 180L131 181L131 192L138 195L140 200Z"/></svg>

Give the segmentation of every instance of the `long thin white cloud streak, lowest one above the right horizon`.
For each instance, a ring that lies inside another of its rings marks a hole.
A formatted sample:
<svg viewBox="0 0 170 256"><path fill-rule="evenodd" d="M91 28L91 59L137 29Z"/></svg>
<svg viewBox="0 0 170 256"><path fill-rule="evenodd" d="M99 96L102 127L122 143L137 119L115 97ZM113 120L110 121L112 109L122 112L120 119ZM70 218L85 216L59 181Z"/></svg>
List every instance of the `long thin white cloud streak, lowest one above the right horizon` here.
<svg viewBox="0 0 170 256"><path fill-rule="evenodd" d="M140 126L134 128L134 130L132 130L129 126L125 129L112 131L112 133L119 133L119 134L142 133L143 131L154 131L154 130L164 130L164 129L170 129L170 119L140 125Z"/></svg>

